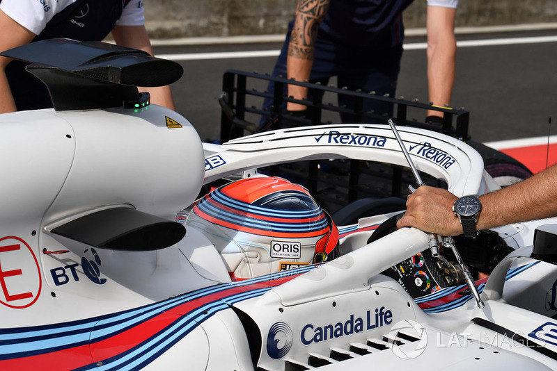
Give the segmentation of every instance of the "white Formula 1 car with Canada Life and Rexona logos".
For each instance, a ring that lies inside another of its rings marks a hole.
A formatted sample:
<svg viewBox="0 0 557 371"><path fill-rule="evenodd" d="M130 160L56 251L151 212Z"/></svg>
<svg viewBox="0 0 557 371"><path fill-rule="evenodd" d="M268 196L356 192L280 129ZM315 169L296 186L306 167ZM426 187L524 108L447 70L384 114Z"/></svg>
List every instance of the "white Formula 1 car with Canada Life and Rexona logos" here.
<svg viewBox="0 0 557 371"><path fill-rule="evenodd" d="M457 254L435 257L426 233L390 228L396 212L377 200L338 225L336 247L333 218L311 194L260 171L336 158L405 167L406 148L455 195L498 189L461 140L400 127L400 147L389 126L351 124L202 143L187 119L136 89L179 79L176 63L72 40L2 55L31 63L54 104L0 115L2 370L557 368L556 220L466 242L462 256L489 273L474 297ZM221 179L233 183L205 195ZM269 201L257 188L246 208L227 187L252 179L276 179L286 195ZM276 213L262 212L269 205ZM297 251L305 242L284 237L292 230L265 235L260 250L223 235L306 222L312 229L294 231L318 231L312 251L327 253L308 261ZM233 277L229 249L239 264L255 266L258 251L281 264Z"/></svg>

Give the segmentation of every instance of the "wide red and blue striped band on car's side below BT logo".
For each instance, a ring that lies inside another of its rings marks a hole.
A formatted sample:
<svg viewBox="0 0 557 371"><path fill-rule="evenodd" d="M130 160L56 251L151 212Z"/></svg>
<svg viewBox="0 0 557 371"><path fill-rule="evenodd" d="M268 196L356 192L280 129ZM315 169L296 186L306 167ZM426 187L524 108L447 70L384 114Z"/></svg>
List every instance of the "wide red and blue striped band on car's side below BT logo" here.
<svg viewBox="0 0 557 371"><path fill-rule="evenodd" d="M229 304L264 294L313 267L223 283L116 315L0 330L0 367L125 370L143 367ZM227 303L228 302L228 303ZM91 336L91 340L84 340ZM134 347L131 345L137 344ZM127 349L122 352L122 349ZM95 362L91 363L91 354Z"/></svg>

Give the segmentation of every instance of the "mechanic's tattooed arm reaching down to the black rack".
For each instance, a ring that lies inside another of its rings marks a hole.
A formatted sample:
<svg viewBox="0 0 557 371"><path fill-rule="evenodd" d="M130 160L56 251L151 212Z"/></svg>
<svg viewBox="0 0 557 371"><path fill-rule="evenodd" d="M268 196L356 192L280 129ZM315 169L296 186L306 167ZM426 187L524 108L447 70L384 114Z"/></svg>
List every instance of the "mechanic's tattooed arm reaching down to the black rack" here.
<svg viewBox="0 0 557 371"><path fill-rule="evenodd" d="M331 0L298 0L294 28L288 44L286 69L288 79L305 81L309 79L313 66L313 53L317 29L323 21ZM298 85L288 85L288 96L302 99L308 96L308 89ZM306 106L288 102L288 110L305 110Z"/></svg>

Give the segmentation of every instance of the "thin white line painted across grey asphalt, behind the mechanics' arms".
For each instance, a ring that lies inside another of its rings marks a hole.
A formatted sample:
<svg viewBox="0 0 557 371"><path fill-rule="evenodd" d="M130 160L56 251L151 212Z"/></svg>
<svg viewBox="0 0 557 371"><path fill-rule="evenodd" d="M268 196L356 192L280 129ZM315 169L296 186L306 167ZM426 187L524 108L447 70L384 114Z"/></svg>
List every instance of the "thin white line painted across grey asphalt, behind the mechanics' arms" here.
<svg viewBox="0 0 557 371"><path fill-rule="evenodd" d="M458 47L492 47L496 45L514 44L540 44L544 42L557 42L557 35L537 36L532 38L500 38L486 40L462 40L457 42ZM420 50L427 48L426 42L415 42L404 45L405 50ZM157 57L170 60L211 60L230 58L266 58L276 57L279 50L256 50L256 51L225 51L215 53L181 53L181 54L157 54Z"/></svg>

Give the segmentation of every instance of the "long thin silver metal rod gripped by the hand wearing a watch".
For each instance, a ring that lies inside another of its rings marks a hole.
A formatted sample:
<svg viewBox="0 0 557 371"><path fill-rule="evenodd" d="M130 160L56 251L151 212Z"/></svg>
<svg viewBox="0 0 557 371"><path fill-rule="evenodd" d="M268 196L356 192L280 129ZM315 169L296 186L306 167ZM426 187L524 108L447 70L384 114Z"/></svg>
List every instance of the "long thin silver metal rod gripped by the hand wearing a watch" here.
<svg viewBox="0 0 557 371"><path fill-rule="evenodd" d="M416 169L416 166L414 165L414 162L410 158L410 154L406 150L404 142L402 142L402 138L400 138L400 134L398 133L398 130L395 128L395 124L394 124L392 119L389 119L389 125L391 126L391 129L392 129L393 133L395 134L396 140L398 141L398 144L400 145L400 149L402 149L402 153L405 155L405 158L408 162L408 165L410 166L410 169L412 170L412 173L414 174L414 178L416 178L416 182L418 182L418 186L424 186L425 183L423 183L420 174L418 174L418 170ZM409 187L409 190L412 191L412 189L410 187ZM432 256L434 256L434 257L439 256L439 245L438 245L437 235L434 234L434 233L427 233L427 236L429 238L429 246L430 246ZM457 263L458 263L458 265L460 265L460 268L462 269L462 272L464 272L464 281L466 281L466 286L468 286L468 288L470 289L470 292L472 293L474 299L476 299L476 303L478 303L478 307L480 309L483 308L485 306L485 304L483 304L483 301L480 298L480 292L478 292L478 288L476 287L476 283L472 279L472 274L468 270L468 267L466 266L466 264L464 264L464 261L462 260L462 257L460 256L460 254L457 250L457 247L455 246L455 241L453 240L452 237L444 237L443 238L443 245L445 247L448 247L448 248L453 250L453 253L455 254L455 258L457 259Z"/></svg>

